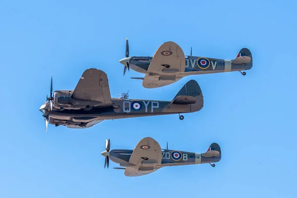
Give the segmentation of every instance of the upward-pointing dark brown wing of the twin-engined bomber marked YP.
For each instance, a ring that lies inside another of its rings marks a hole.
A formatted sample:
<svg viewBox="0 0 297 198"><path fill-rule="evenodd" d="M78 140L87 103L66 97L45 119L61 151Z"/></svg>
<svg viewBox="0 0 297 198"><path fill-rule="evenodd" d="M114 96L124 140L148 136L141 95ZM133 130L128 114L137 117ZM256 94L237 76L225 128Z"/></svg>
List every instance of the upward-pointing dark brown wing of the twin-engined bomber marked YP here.
<svg viewBox="0 0 297 198"><path fill-rule="evenodd" d="M112 106L107 75L99 69L87 69L71 96L73 99L101 102L99 106Z"/></svg>

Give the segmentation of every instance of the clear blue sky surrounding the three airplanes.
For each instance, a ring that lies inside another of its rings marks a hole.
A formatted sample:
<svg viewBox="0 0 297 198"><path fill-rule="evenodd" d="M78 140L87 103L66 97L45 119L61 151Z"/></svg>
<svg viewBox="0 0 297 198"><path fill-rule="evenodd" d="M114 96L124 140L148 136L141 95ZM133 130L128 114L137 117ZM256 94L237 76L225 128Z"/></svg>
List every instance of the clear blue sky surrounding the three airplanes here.
<svg viewBox="0 0 297 198"><path fill-rule="evenodd" d="M294 0L1 0L1 198L296 198L297 2ZM188 76L145 89L143 77L118 61L153 55L166 41L193 55L233 59L242 48L253 68ZM201 111L105 120L88 129L45 122L39 107L54 90L74 89L87 68L106 72L112 97L170 100L191 79ZM144 137L162 148L204 152L216 142L222 159L126 177L104 169L111 149L133 149Z"/></svg>

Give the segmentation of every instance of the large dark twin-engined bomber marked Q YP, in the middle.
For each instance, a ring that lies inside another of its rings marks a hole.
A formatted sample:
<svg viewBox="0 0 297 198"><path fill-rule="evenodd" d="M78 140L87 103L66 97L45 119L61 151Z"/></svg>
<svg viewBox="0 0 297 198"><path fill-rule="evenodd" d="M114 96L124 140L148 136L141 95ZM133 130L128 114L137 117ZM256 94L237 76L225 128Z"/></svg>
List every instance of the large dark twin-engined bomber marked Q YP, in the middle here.
<svg viewBox="0 0 297 198"><path fill-rule="evenodd" d="M129 99L128 93L111 98L106 73L90 68L84 71L74 90L58 90L41 105L46 122L68 128L89 128L103 120L154 115L193 113L203 107L203 95L198 83L188 81L169 101Z"/></svg>

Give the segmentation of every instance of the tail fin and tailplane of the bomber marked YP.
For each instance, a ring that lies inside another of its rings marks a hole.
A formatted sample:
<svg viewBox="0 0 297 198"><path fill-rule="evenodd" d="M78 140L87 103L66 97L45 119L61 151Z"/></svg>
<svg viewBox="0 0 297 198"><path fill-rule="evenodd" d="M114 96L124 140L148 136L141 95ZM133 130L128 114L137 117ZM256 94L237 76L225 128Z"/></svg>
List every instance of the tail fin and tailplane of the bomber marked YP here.
<svg viewBox="0 0 297 198"><path fill-rule="evenodd" d="M187 82L174 97L174 104L191 104L191 111L199 111L203 107L203 95L195 80Z"/></svg>

